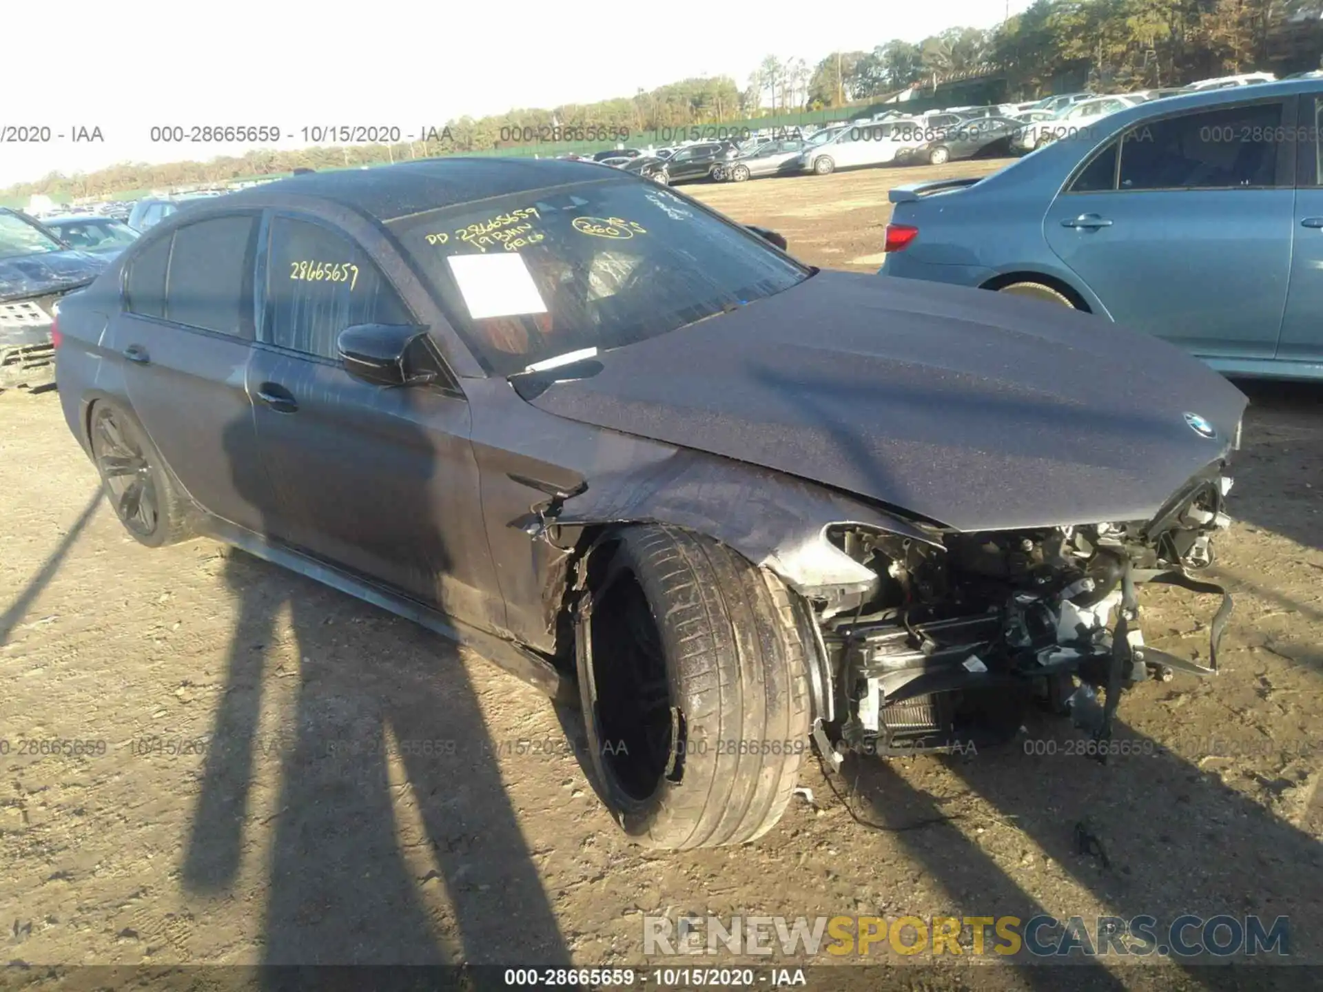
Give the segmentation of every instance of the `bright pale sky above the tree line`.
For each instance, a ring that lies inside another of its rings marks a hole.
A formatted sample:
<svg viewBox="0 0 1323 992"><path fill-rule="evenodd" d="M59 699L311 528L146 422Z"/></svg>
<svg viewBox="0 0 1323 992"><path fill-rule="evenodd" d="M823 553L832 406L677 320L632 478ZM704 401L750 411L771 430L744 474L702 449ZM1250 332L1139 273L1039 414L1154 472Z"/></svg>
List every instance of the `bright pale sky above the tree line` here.
<svg viewBox="0 0 1323 992"><path fill-rule="evenodd" d="M15 4L5 38L26 44L5 45L0 189L50 171L259 147L152 142L153 126L277 126L292 135L266 143L279 148L306 147L302 130L318 126L398 127L409 140L464 114L591 103L696 75L730 75L744 86L767 54L812 66L837 49L990 28L1027 5L836 0L658 13L663 8L628 0L226 0L202 13L177 0ZM50 140L12 140L15 128L33 126L50 128ZM78 128L99 128L103 140L74 142Z"/></svg>

